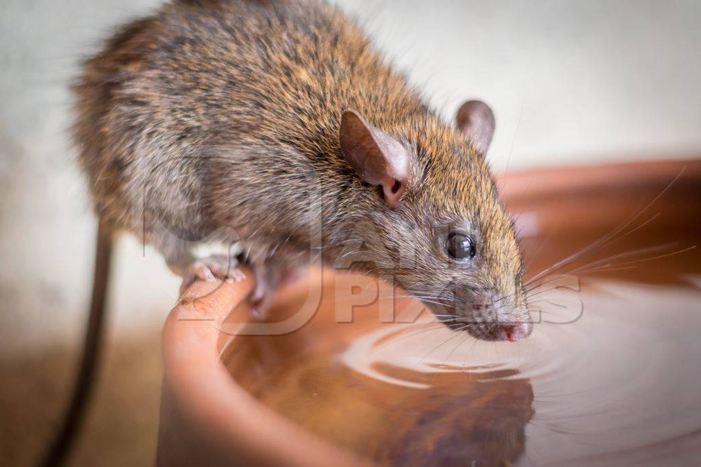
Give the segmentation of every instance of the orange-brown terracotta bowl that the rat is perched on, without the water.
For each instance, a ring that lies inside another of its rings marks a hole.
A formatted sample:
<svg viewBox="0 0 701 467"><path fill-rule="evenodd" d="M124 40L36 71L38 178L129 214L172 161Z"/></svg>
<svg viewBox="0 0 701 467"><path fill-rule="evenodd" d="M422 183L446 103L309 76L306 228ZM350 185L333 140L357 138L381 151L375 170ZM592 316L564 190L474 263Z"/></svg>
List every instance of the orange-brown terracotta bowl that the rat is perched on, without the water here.
<svg viewBox="0 0 701 467"><path fill-rule="evenodd" d="M625 223L651 202L654 211L664 213L664 220L651 225L645 237L631 235L631 244L665 239L675 231L698 235L701 207L688 200L698 199L700 181L701 163L696 160L552 169L499 179L508 209L519 218L526 260L533 270ZM547 248L534 254L532 246L544 238L550 239ZM381 300L367 305L358 294L337 291L355 290L353 286L389 292L391 288L373 279L311 271L276 297L269 320L278 323L275 333L280 335L270 351L261 345L270 337L236 335L250 316L245 298L252 286L251 279L238 284L196 283L170 312L163 329L158 465L370 465L273 412L250 389L260 389L265 376L261 372L276 361L301 364L302 358L287 357L336 352L355 337L384 326L378 319L386 313ZM320 305L300 318L299 309L315 294ZM401 300L402 306L410 305L409 298ZM343 321L348 304L358 306L341 326L339 316ZM518 423L524 424L529 416L520 414ZM397 431L403 428L397 426Z"/></svg>

